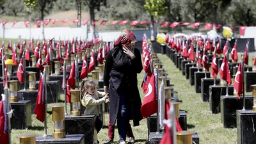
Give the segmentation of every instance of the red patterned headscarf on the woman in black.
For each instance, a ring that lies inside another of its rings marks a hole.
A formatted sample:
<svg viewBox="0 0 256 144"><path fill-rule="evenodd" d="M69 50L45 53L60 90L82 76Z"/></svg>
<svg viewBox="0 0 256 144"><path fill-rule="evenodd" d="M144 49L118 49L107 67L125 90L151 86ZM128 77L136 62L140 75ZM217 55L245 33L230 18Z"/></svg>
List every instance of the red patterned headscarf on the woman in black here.
<svg viewBox="0 0 256 144"><path fill-rule="evenodd" d="M116 39L114 46L117 45L128 45L137 42L134 33L129 29L125 29L121 32L121 35Z"/></svg>

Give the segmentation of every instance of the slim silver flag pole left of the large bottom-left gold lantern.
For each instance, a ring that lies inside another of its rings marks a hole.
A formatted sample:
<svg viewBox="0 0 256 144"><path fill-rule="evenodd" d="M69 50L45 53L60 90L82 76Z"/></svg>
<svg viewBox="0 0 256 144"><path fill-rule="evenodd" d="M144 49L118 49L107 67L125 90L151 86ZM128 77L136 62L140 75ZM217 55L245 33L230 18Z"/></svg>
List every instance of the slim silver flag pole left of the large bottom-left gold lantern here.
<svg viewBox="0 0 256 144"><path fill-rule="evenodd" d="M47 82L46 82L46 68L44 68L44 104L45 104L45 119L44 119L44 137L46 138L47 136Z"/></svg>

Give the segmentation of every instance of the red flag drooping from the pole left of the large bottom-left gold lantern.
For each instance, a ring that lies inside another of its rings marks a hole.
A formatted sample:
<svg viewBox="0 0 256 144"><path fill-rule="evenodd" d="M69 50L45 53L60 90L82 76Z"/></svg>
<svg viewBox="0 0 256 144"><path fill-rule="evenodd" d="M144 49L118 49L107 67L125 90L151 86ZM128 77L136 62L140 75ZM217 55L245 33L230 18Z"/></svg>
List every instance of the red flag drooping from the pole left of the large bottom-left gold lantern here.
<svg viewBox="0 0 256 144"><path fill-rule="evenodd" d="M45 120L45 104L44 104L44 80L42 79L42 75L40 76L39 84L38 84L38 94L36 98L36 106L34 113L36 114L36 118L40 120L40 122L44 122Z"/></svg>

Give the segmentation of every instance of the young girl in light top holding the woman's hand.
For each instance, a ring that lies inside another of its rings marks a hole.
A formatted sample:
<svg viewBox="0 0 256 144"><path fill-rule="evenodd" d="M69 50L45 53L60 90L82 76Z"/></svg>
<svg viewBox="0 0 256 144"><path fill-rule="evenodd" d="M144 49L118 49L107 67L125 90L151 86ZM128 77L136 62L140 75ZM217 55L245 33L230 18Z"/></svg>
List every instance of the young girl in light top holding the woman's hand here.
<svg viewBox="0 0 256 144"><path fill-rule="evenodd" d="M83 96L82 104L86 108L84 114L96 115L95 128L97 129L97 133L99 133L102 127L99 106L104 102L108 102L108 94L105 95L104 92L95 90L95 83L92 79L83 79L81 84L81 95Z"/></svg>

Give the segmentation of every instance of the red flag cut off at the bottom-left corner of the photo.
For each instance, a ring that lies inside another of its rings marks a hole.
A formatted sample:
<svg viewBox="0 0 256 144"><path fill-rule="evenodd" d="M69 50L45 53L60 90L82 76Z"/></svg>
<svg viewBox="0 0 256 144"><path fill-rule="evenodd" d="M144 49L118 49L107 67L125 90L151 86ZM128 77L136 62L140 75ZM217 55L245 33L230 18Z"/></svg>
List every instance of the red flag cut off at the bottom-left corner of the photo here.
<svg viewBox="0 0 256 144"><path fill-rule="evenodd" d="M2 100L1 100L1 104L0 104L0 141L1 143L9 143L9 139L8 139L8 120L6 118L6 108L4 108L4 106L6 106L6 100L5 100L5 95L2 94Z"/></svg>

